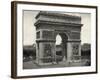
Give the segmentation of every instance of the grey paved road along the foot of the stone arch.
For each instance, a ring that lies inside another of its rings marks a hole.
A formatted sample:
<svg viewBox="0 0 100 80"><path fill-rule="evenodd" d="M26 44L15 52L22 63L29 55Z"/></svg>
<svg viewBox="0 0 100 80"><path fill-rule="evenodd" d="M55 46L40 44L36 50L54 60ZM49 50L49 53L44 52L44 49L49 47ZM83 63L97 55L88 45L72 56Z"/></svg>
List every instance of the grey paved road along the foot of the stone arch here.
<svg viewBox="0 0 100 80"><path fill-rule="evenodd" d="M34 60L31 61L27 61L23 63L23 69L39 69L39 68L57 68L57 67L75 67L75 66L84 66L85 63L68 63L66 61L64 62L59 62L56 64L50 64L50 65L43 65L43 66L39 66L35 63Z"/></svg>

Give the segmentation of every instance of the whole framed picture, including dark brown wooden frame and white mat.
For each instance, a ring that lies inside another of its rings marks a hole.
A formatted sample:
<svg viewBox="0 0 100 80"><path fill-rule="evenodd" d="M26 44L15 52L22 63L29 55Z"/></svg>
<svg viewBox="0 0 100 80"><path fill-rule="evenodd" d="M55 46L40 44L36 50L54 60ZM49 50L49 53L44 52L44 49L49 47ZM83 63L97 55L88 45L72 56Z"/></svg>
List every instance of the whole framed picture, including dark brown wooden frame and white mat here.
<svg viewBox="0 0 100 80"><path fill-rule="evenodd" d="M12 77L97 73L97 6L12 2Z"/></svg>

